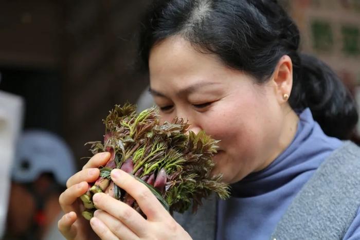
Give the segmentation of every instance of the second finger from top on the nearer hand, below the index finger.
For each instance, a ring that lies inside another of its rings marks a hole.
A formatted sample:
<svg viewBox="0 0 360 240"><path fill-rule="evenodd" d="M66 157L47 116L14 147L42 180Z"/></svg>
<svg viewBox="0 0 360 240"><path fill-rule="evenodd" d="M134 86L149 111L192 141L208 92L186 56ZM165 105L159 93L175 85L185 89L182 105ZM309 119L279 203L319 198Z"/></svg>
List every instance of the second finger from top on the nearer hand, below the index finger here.
<svg viewBox="0 0 360 240"><path fill-rule="evenodd" d="M143 236L148 222L135 209L104 193L95 194L93 196L93 201L97 209L104 210L113 215L136 235L140 237Z"/></svg>

